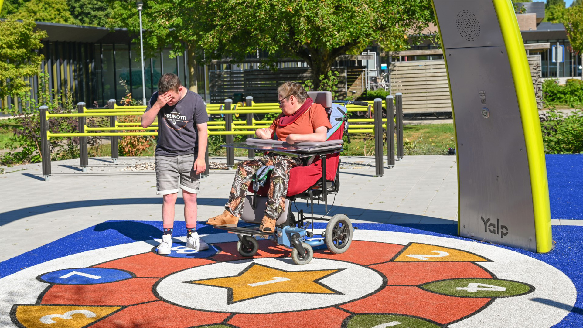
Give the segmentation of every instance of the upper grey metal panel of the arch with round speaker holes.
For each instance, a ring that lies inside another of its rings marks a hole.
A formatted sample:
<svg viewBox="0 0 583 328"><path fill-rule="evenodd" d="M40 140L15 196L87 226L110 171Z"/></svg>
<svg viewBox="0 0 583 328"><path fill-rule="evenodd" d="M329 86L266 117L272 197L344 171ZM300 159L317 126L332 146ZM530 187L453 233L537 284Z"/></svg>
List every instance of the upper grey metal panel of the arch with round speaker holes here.
<svg viewBox="0 0 583 328"><path fill-rule="evenodd" d="M504 46L491 1L436 0L444 48Z"/></svg>

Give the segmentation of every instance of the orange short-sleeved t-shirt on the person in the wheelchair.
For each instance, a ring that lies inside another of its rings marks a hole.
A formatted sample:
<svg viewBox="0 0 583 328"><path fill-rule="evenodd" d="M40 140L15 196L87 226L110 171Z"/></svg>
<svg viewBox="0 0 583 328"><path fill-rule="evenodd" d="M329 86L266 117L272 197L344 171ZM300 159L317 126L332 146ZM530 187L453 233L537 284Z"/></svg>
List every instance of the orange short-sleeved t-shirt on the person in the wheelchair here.
<svg viewBox="0 0 583 328"><path fill-rule="evenodd" d="M305 113L301 114L294 123L288 124L285 127L279 127L279 119L283 116L283 113L279 115L278 118L273 120L273 123L269 127L271 130L275 130L275 134L278 136L279 141L285 141L288 135L292 133L297 134L308 134L314 133L319 127L332 128L328 114L321 104L312 104Z"/></svg>

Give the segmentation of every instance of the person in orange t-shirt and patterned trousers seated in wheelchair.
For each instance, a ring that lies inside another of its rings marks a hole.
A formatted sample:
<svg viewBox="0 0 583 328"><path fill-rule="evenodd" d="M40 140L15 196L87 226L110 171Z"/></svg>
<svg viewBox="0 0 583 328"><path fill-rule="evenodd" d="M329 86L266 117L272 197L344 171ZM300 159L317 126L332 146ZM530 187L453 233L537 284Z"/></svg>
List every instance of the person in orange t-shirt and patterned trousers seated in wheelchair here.
<svg viewBox="0 0 583 328"><path fill-rule="evenodd" d="M286 82L279 86L278 103L282 113L273 120L269 128L255 131L258 138L278 139L288 144L326 140L326 131L332 128L328 115L324 107L313 103L300 83ZM275 153L238 163L229 201L223 214L210 218L206 223L215 226L237 226L253 175L260 168L269 165L273 166L273 169L269 179L268 202L259 229L267 233L275 232L276 219L285 211L290 169L305 165L303 159Z"/></svg>

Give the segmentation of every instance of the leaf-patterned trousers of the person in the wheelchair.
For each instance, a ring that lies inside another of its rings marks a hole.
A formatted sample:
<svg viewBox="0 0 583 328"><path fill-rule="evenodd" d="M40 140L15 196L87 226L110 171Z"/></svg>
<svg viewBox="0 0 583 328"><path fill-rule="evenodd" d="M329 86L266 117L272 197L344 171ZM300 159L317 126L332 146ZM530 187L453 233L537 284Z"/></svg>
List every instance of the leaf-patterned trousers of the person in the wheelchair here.
<svg viewBox="0 0 583 328"><path fill-rule="evenodd" d="M273 165L269 179L269 192L265 215L276 219L285 210L287 184L290 179L290 169L303 165L301 159L282 155L266 155L259 158L245 160L237 164L237 173L233 180L229 201L225 205L227 211L240 217L245 203L245 196L251 184L251 178L265 165Z"/></svg>

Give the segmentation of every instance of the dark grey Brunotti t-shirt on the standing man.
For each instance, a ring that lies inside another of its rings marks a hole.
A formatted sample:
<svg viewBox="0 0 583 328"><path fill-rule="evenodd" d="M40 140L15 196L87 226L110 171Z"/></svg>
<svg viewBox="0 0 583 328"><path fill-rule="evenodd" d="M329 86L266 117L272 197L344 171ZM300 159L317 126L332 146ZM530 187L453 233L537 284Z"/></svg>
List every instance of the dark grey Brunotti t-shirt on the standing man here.
<svg viewBox="0 0 583 328"><path fill-rule="evenodd" d="M150 110L158 92L154 92L147 104ZM206 105L198 93L188 90L184 98L174 106L167 104L158 112L158 141L156 155L178 156L190 153L198 154L198 130L196 124L208 122Z"/></svg>

